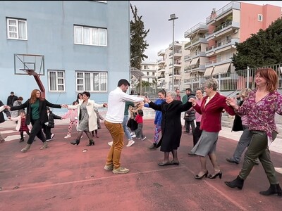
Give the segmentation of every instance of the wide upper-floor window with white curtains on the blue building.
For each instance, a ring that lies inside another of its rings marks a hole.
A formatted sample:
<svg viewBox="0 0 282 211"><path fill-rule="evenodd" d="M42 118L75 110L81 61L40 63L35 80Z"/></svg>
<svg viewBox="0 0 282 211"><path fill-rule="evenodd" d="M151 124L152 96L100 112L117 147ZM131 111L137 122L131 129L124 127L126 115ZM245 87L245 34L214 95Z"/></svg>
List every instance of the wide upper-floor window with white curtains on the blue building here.
<svg viewBox="0 0 282 211"><path fill-rule="evenodd" d="M92 45L92 46L106 46L106 29L74 26L75 44Z"/></svg>

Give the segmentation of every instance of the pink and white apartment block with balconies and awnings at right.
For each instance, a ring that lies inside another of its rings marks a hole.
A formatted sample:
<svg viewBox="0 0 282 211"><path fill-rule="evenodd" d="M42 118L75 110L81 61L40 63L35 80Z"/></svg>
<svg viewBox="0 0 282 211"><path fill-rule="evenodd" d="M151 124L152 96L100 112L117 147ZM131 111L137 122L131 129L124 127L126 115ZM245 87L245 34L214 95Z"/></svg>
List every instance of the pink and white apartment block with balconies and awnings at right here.
<svg viewBox="0 0 282 211"><path fill-rule="evenodd" d="M218 78L219 73L221 85L228 84L230 73L235 71L231 60L236 52L235 43L245 41L251 34L259 29L265 30L273 21L281 18L281 7L269 4L260 6L231 1L218 10L211 8L211 11L205 22L197 23L184 32L184 37L190 41L184 46L183 74L175 78L181 78L180 90L187 87L195 90L202 86L205 78ZM159 69L162 71L166 65L165 55L165 51L158 53L161 56ZM236 79L240 83L240 77ZM169 79L165 78L164 83L168 82Z"/></svg>

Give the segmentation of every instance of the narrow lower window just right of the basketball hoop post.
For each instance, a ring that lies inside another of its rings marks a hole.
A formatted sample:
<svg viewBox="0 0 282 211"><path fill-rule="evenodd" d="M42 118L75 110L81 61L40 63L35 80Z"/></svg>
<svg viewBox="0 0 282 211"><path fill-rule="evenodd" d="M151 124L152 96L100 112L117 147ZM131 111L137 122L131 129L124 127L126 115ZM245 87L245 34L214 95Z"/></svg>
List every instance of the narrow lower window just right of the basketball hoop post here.
<svg viewBox="0 0 282 211"><path fill-rule="evenodd" d="M48 70L49 91L66 91L65 90L65 71Z"/></svg>

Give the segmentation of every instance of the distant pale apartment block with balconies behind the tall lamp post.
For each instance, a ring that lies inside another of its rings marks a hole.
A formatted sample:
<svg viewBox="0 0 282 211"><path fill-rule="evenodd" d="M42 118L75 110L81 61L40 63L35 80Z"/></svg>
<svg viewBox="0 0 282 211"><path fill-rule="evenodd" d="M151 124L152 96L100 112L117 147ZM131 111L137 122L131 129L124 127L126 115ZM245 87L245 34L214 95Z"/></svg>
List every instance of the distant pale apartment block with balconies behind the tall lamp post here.
<svg viewBox="0 0 282 211"><path fill-rule="evenodd" d="M185 44L187 41L174 41L174 45L171 43L166 50L158 52L161 58L157 60L159 65L157 89L183 89L184 56L189 52L184 49ZM172 87L172 80L174 80L174 87Z"/></svg>

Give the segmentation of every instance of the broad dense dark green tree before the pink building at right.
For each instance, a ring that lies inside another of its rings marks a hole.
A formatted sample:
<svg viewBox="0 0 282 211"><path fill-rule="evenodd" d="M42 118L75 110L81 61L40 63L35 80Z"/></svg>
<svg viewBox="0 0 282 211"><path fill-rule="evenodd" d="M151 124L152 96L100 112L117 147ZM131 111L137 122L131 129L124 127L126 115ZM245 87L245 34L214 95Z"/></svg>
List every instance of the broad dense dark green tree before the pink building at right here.
<svg viewBox="0 0 282 211"><path fill-rule="evenodd" d="M282 63L282 19L278 18L266 30L251 34L235 46L237 52L232 58L235 70Z"/></svg>

